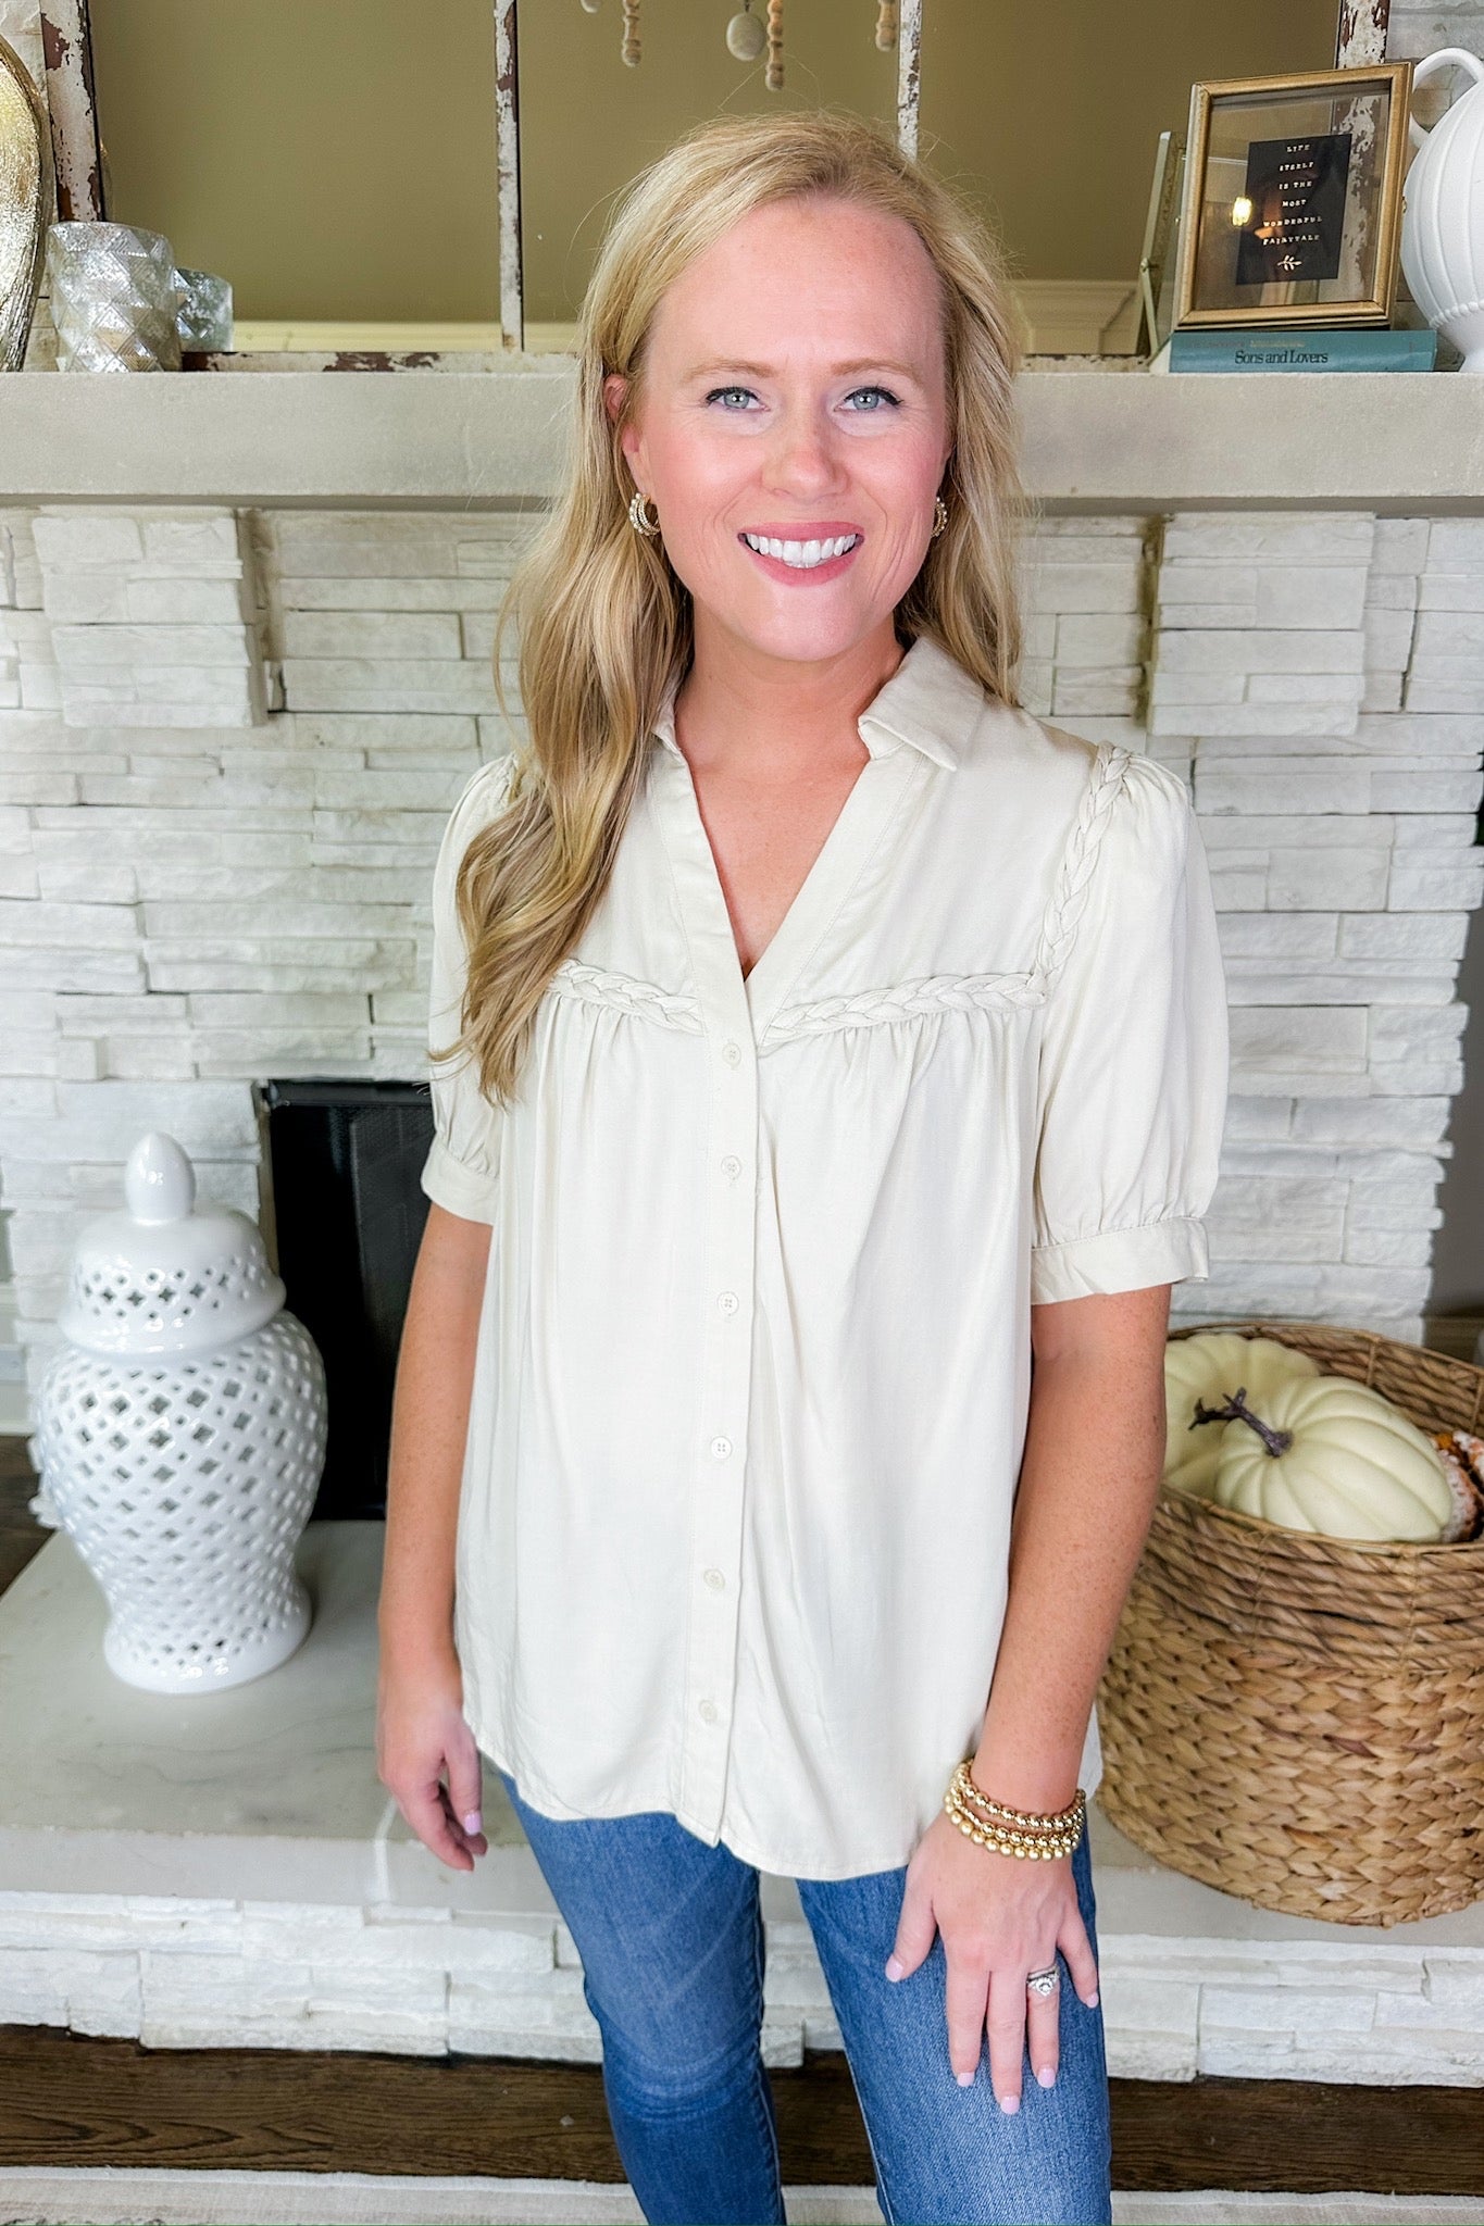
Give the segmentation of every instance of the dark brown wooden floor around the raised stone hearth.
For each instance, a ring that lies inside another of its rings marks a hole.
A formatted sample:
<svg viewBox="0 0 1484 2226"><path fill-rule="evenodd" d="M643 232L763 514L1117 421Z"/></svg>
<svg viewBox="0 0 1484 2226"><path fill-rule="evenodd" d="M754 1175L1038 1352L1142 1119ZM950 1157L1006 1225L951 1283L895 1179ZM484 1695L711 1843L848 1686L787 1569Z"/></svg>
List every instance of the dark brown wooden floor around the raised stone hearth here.
<svg viewBox="0 0 1484 2226"><path fill-rule="evenodd" d="M0 1592L51 1531L0 1438ZM788 2184L868 2186L839 2050L770 2072ZM1112 2184L1130 2193L1330 2188L1484 2195L1477 2088L1112 2079ZM287 2048L142 2048L0 2026L0 2168L156 2166L623 2179L596 2064Z"/></svg>

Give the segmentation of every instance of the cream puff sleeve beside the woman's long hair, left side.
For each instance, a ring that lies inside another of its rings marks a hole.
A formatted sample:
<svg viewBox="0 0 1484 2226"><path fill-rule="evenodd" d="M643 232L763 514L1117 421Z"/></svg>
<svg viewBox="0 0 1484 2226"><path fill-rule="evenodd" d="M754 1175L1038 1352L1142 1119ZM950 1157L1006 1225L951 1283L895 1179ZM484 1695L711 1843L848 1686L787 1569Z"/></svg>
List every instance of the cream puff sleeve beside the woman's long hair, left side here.
<svg viewBox="0 0 1484 2226"><path fill-rule="evenodd" d="M452 1044L461 1031L467 953L458 924L456 881L474 835L496 817L509 788L512 761L496 757L469 779L454 806L434 866L434 951L427 995L427 1046ZM436 1206L467 1222L494 1222L501 1175L503 1111L478 1086L467 1053L432 1062L434 1142L421 1184Z"/></svg>

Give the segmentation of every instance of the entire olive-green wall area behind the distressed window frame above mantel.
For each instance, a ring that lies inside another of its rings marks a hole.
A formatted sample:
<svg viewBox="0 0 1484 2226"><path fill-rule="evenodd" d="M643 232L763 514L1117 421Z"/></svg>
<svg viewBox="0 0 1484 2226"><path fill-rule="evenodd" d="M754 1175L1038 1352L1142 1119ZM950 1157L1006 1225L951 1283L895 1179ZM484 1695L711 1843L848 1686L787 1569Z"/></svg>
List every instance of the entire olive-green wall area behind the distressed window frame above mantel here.
<svg viewBox="0 0 1484 2226"><path fill-rule="evenodd" d="M788 0L783 93L739 0L525 0L527 316L567 318L612 194L716 109L890 120L870 0ZM91 0L109 214L222 272L243 318L494 321L492 0ZM754 0L761 9L763 0ZM923 154L1023 278L1132 278L1155 140L1190 80L1326 69L1337 0L926 0Z"/></svg>

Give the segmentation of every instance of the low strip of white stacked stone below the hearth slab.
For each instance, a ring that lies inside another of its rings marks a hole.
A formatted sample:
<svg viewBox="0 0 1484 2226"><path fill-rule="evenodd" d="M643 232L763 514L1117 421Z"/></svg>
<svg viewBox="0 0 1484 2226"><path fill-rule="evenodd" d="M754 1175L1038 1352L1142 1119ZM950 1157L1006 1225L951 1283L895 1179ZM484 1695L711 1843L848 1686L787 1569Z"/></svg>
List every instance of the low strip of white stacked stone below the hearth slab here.
<svg viewBox="0 0 1484 2226"><path fill-rule="evenodd" d="M763 2057L839 2048L803 1919L765 1921ZM1115 2079L1484 2086L1484 1948L1099 1934ZM147 2048L590 2061L558 1917L445 1905L0 1892L0 2021Z"/></svg>

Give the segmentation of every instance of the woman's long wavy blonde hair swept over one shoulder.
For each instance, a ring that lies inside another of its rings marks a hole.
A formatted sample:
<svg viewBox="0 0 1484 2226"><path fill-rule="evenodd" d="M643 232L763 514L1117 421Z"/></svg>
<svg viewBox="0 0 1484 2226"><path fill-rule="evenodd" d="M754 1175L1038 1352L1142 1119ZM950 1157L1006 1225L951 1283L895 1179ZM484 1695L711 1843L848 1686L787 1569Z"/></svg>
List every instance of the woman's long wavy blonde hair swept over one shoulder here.
<svg viewBox="0 0 1484 2226"><path fill-rule="evenodd" d="M456 1044L487 1097L509 1102L541 995L576 946L612 873L641 788L650 730L692 657L692 599L663 541L627 519L634 481L621 434L639 410L645 347L665 289L739 218L825 196L906 218L941 280L948 525L897 605L910 646L932 634L986 690L1015 703L1021 648L1017 541L1028 514L1017 470L1021 338L999 243L979 216L881 127L834 109L723 116L687 131L623 191L578 323L578 392L561 492L501 603L518 626L527 735L505 808L456 877L467 975ZM603 381L627 381L610 418Z"/></svg>

